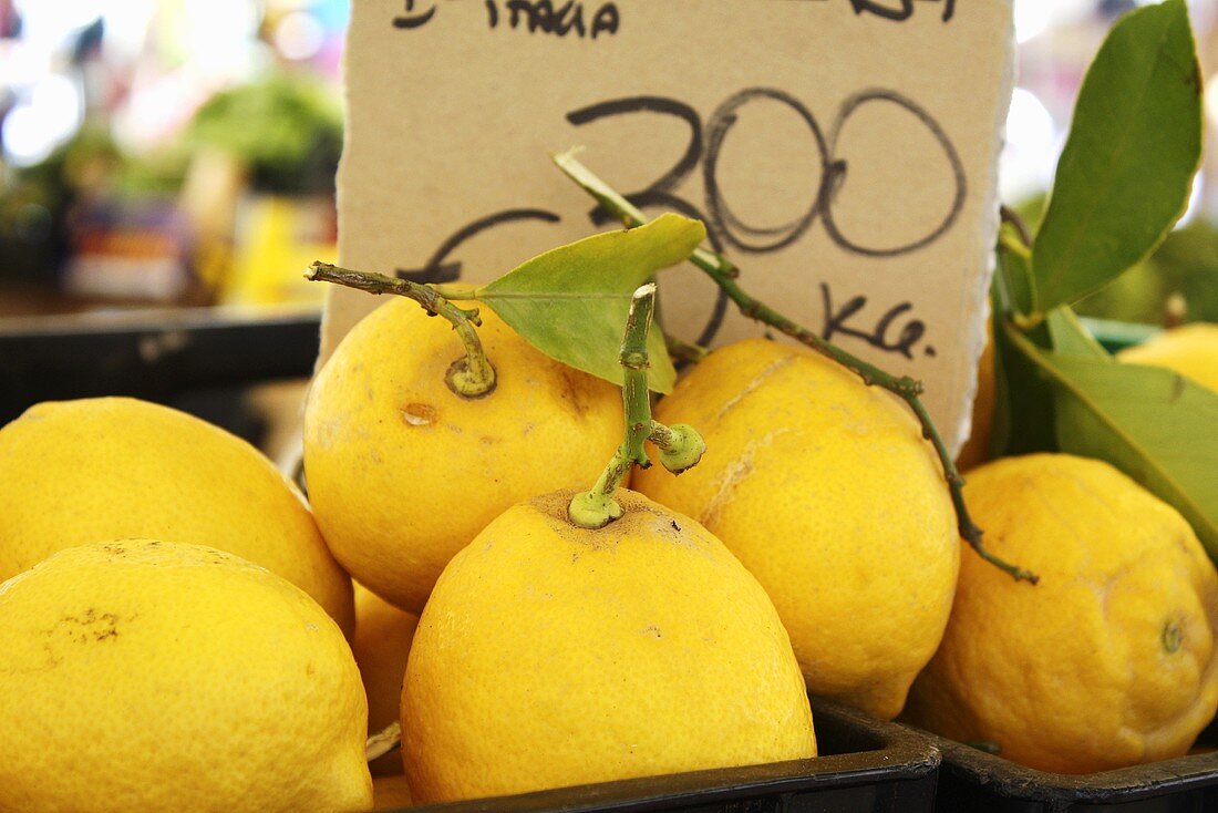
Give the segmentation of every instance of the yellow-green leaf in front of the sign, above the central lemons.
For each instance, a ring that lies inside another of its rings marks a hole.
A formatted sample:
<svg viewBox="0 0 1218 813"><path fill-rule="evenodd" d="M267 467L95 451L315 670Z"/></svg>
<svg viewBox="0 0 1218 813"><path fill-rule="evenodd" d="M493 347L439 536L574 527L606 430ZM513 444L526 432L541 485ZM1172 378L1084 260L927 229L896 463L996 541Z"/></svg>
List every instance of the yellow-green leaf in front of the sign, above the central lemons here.
<svg viewBox="0 0 1218 813"><path fill-rule="evenodd" d="M621 385L618 352L631 294L655 272L687 260L705 239L699 221L661 215L635 229L547 251L482 285L474 297L547 356ZM658 325L647 346L648 385L670 392L676 371Z"/></svg>

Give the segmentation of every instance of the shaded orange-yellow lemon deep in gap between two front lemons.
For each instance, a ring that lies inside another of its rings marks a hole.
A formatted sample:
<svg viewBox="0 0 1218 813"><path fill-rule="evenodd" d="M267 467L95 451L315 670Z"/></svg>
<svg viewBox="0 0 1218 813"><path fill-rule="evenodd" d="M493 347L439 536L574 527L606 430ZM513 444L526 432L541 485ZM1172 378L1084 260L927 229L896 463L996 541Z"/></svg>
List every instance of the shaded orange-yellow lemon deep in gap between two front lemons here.
<svg viewBox="0 0 1218 813"><path fill-rule="evenodd" d="M402 675L419 617L403 612L356 584L356 635L351 641L368 695L368 730L376 733L401 718ZM402 773L396 751L370 763L374 776Z"/></svg>

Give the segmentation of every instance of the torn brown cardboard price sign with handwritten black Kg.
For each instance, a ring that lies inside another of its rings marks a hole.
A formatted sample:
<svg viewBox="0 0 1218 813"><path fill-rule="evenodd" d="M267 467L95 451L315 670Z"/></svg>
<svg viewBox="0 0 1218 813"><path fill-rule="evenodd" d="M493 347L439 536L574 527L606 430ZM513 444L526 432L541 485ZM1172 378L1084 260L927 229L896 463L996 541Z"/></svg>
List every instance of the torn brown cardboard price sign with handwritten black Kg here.
<svg viewBox="0 0 1218 813"><path fill-rule="evenodd" d="M754 296L967 431L1011 95L1010 0L354 0L340 260L486 282L616 224L551 163L706 222ZM765 332L693 267L664 327ZM323 357L375 297L331 293Z"/></svg>

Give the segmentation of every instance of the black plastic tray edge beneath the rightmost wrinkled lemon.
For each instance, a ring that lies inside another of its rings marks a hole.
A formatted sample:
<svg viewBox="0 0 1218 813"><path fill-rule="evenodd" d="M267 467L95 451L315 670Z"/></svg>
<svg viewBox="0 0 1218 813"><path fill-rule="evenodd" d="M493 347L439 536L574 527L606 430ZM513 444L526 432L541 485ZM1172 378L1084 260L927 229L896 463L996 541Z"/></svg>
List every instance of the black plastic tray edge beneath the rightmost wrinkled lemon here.
<svg viewBox="0 0 1218 813"><path fill-rule="evenodd" d="M944 813L1202 813L1218 811L1218 751L1097 774L1050 774L927 734L943 753ZM1197 739L1218 746L1218 726Z"/></svg>

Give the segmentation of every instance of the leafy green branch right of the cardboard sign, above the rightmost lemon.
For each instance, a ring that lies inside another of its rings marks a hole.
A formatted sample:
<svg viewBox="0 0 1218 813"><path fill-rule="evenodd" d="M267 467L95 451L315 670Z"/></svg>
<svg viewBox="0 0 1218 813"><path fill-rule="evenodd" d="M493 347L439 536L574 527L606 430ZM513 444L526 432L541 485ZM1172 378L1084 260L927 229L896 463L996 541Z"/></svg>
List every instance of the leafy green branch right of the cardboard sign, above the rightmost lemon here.
<svg viewBox="0 0 1218 813"><path fill-rule="evenodd" d="M1107 461L1174 506L1218 561L1218 394L1116 363L1071 307L1150 256L1184 212L1201 102L1184 0L1122 17L1083 82L1043 222L1004 218L991 451Z"/></svg>

